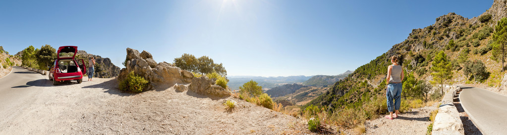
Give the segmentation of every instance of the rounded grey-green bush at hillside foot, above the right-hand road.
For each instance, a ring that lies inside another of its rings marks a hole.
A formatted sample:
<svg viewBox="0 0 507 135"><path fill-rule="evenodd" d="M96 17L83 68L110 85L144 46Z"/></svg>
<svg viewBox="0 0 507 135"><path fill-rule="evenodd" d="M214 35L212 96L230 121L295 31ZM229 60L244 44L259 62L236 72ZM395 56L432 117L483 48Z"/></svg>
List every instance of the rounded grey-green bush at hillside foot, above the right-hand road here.
<svg viewBox="0 0 507 135"><path fill-rule="evenodd" d="M474 62L468 61L465 63L464 67L463 74L466 76L474 76L476 81L482 81L488 77L486 66L480 60L475 60Z"/></svg>

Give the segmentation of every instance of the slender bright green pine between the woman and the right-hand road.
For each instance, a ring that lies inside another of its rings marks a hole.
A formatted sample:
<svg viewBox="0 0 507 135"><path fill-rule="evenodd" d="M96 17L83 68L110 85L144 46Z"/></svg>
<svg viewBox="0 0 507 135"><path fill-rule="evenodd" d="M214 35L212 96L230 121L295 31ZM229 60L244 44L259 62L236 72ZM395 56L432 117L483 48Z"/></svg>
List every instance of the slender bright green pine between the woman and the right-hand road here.
<svg viewBox="0 0 507 135"><path fill-rule="evenodd" d="M441 86L442 95L444 94L444 83L452 78L452 65L444 51L440 51L433 59L431 66L431 76L433 76L432 84Z"/></svg>

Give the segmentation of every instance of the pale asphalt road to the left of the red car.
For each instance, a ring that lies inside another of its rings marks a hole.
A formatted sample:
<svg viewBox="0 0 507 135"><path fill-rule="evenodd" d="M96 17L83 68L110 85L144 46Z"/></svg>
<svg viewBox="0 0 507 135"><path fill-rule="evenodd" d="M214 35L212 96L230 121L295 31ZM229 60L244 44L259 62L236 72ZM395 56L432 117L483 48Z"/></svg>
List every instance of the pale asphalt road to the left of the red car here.
<svg viewBox="0 0 507 135"><path fill-rule="evenodd" d="M35 101L41 89L39 86L48 85L46 77L14 67L9 75L0 78L0 131L9 126L9 120L15 119Z"/></svg>

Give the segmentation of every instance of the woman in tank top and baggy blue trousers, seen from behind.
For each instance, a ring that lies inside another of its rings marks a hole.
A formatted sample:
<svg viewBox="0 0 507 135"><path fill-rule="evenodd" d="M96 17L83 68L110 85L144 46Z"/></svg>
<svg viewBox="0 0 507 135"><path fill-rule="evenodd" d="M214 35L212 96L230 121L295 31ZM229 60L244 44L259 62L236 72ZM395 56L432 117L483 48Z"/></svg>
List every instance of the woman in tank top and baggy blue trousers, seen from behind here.
<svg viewBox="0 0 507 135"><path fill-rule="evenodd" d="M400 115L400 104L401 104L401 95L402 95L402 80L403 80L403 68L398 63L398 57L392 56L391 63L387 67L387 77L386 82L386 98L387 98L387 110L389 111L389 115L386 115L385 118L392 119L396 118ZM394 101L394 104L393 104ZM395 112L393 114L393 111Z"/></svg>

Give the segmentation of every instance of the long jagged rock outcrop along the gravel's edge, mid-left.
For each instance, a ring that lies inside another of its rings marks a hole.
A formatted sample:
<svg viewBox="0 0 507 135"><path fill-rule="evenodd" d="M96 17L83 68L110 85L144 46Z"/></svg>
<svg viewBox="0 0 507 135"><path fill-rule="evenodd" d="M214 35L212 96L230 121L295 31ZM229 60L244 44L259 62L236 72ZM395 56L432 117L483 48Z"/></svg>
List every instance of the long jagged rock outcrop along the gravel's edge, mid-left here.
<svg viewBox="0 0 507 135"><path fill-rule="evenodd" d="M175 84L174 88L176 92L188 90L200 95L216 97L230 95L230 91L227 89L214 85L214 79L209 79L205 76L196 78L191 72L182 70L167 62L157 64L149 52L142 51L142 53L139 53L137 50L127 48L126 58L126 68L120 71L119 80L123 80L129 72L133 71L135 74L150 81L148 89L153 89L157 85Z"/></svg>

